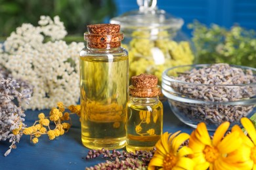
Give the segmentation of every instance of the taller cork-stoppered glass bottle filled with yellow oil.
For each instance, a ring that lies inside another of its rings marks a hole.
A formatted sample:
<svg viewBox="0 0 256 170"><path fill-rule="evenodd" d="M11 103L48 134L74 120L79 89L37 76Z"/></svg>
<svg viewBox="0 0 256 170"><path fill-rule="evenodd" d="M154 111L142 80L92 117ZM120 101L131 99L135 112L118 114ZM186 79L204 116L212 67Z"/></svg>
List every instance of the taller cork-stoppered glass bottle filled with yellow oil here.
<svg viewBox="0 0 256 170"><path fill-rule="evenodd" d="M88 25L87 47L80 52L81 141L91 149L126 144L129 97L128 52L121 47L120 25Z"/></svg>

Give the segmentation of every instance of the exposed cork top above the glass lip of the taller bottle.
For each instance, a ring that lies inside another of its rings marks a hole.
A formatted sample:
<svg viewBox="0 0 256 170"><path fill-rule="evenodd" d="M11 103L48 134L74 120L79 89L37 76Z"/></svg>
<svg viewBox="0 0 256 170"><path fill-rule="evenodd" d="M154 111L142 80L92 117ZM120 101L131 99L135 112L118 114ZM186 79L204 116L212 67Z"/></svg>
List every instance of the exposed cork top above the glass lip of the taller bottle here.
<svg viewBox="0 0 256 170"><path fill-rule="evenodd" d="M100 35L112 35L119 33L120 25L118 24L94 24L87 25L89 33Z"/></svg>

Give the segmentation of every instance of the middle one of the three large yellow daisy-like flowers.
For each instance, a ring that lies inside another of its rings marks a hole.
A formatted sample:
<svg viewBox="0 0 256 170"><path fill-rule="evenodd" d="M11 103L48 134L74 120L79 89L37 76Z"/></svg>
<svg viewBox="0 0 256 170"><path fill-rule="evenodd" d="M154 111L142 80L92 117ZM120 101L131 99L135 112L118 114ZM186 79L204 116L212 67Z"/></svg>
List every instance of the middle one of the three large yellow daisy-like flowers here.
<svg viewBox="0 0 256 170"><path fill-rule="evenodd" d="M229 125L229 122L221 124L211 140L205 124L203 122L198 124L196 130L190 135L188 143L188 147L194 151L190 157L196 163L195 169L238 169L236 163L240 156L228 154L240 148L242 139L238 131L224 137Z"/></svg>

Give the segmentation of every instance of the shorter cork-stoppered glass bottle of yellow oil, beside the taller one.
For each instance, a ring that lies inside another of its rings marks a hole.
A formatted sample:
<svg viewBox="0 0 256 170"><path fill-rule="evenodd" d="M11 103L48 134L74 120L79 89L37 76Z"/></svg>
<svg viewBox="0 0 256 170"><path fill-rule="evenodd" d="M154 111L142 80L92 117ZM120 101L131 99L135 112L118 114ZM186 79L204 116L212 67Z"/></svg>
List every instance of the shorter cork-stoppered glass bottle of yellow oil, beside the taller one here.
<svg viewBox="0 0 256 170"><path fill-rule="evenodd" d="M161 93L158 78L140 74L132 76L131 82L131 97L127 103L126 150L152 150L163 133L163 104L158 99Z"/></svg>

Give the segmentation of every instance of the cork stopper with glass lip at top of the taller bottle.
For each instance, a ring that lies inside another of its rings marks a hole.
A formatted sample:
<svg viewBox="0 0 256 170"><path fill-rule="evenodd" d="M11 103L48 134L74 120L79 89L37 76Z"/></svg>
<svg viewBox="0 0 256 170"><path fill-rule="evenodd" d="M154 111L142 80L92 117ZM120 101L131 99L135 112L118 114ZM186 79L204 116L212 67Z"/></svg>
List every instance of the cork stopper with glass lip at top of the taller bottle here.
<svg viewBox="0 0 256 170"><path fill-rule="evenodd" d="M88 32L84 34L89 48L117 48L121 46L123 33L119 33L118 24L87 25Z"/></svg>

